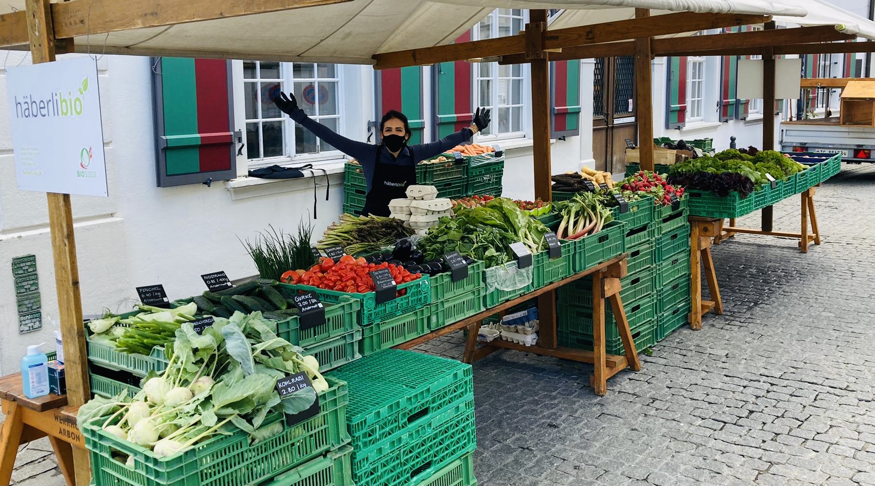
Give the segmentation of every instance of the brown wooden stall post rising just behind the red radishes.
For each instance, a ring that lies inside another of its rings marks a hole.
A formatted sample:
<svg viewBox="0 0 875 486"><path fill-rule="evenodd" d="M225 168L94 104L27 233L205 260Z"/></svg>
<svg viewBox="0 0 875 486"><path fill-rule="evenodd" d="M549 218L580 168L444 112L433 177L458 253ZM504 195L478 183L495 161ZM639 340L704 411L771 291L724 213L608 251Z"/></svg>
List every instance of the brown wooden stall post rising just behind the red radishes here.
<svg viewBox="0 0 875 486"><path fill-rule="evenodd" d="M649 9L635 9L635 18L650 17ZM638 114L638 149L641 170L654 170L654 105L649 37L635 39L635 106Z"/></svg>

